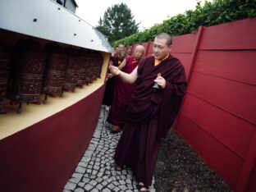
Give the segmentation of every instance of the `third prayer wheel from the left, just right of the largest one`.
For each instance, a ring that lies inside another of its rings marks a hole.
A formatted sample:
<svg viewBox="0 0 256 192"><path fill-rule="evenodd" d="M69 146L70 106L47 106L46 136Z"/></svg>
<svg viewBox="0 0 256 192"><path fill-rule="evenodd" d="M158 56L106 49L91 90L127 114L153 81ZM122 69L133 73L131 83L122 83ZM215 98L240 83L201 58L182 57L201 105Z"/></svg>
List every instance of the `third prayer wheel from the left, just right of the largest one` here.
<svg viewBox="0 0 256 192"><path fill-rule="evenodd" d="M65 71L66 54L64 48L56 43L49 43L44 46L46 57L45 78L43 80L43 93L55 97L62 96ZM45 101L44 101L45 102Z"/></svg>

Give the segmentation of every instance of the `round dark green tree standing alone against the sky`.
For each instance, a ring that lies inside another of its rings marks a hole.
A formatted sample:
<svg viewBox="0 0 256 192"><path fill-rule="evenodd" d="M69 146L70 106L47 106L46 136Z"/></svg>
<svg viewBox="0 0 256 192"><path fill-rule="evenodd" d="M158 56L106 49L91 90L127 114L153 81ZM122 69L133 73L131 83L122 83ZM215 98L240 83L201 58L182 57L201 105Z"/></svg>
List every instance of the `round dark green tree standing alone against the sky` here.
<svg viewBox="0 0 256 192"><path fill-rule="evenodd" d="M100 18L97 30L108 37L110 42L123 39L130 34L138 32L139 23L136 24L134 16L125 3L107 7L103 19Z"/></svg>

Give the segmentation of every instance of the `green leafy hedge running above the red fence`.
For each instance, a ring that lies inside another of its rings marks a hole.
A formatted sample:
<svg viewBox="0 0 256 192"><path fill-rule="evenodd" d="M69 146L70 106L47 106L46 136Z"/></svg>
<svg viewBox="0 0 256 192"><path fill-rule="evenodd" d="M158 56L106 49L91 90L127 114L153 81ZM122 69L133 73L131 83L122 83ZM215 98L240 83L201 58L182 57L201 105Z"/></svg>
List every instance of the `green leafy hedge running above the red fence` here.
<svg viewBox="0 0 256 192"><path fill-rule="evenodd" d="M213 0L213 2L205 2L203 6L198 2L194 11L185 11L184 14L172 16L148 30L117 40L112 43L112 47L117 47L120 43L129 46L133 43L152 41L155 35L161 32L172 36L190 34L198 30L201 25L217 25L254 16L256 16L256 0Z"/></svg>

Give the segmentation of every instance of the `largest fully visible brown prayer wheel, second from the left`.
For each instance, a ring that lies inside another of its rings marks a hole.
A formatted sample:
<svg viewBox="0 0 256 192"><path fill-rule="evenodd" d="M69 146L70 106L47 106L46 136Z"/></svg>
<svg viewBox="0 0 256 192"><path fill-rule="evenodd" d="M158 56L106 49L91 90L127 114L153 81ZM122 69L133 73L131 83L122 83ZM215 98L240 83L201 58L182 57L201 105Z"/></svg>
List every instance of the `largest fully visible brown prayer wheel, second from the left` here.
<svg viewBox="0 0 256 192"><path fill-rule="evenodd" d="M19 103L41 103L45 54L43 48L31 39L20 39L16 43L11 70L11 101Z"/></svg>

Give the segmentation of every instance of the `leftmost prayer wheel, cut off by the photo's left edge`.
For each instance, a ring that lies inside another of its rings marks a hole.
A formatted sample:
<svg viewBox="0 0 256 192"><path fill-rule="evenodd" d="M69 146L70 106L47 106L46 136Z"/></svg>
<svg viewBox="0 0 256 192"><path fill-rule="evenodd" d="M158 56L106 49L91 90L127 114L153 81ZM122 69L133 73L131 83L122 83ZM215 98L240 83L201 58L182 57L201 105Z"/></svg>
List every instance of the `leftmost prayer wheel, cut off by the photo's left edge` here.
<svg viewBox="0 0 256 192"><path fill-rule="evenodd" d="M7 94L7 81L11 68L11 47L0 45L0 114L6 113L4 98Z"/></svg>

